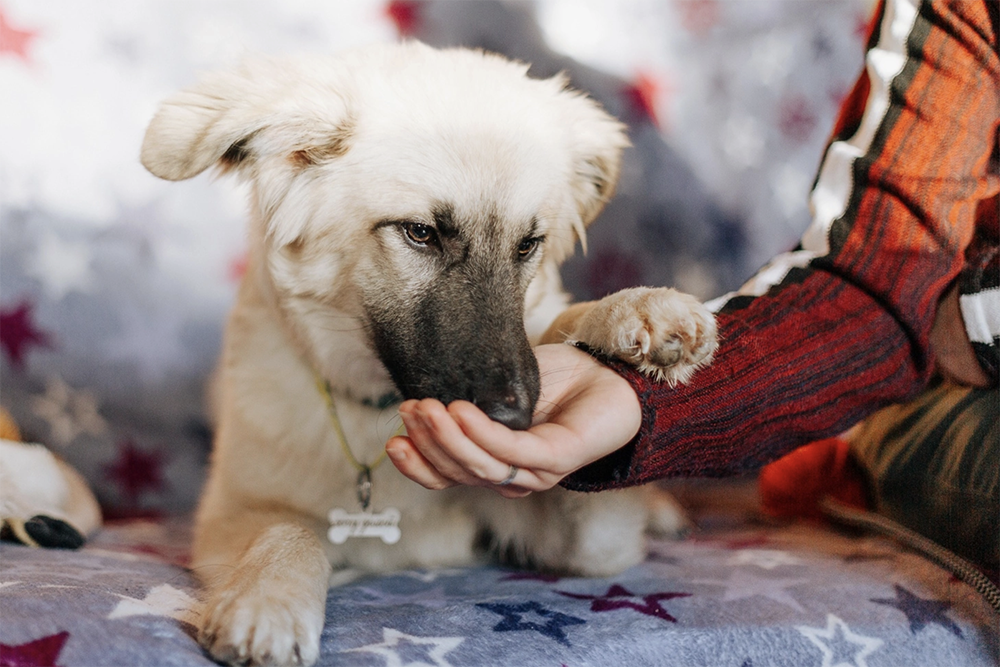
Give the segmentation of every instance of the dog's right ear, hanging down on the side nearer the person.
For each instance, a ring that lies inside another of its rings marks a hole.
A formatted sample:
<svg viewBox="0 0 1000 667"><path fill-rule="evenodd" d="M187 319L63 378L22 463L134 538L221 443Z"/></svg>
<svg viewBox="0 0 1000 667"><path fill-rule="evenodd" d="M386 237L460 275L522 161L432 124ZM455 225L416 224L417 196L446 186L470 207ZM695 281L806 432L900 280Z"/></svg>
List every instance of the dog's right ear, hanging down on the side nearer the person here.
<svg viewBox="0 0 1000 667"><path fill-rule="evenodd" d="M583 226L589 225L615 193L621 171L622 150L630 145L625 125L583 93L572 91L563 80L569 99L572 133L572 189L580 216L577 234L585 242ZM586 245L584 245L586 247Z"/></svg>

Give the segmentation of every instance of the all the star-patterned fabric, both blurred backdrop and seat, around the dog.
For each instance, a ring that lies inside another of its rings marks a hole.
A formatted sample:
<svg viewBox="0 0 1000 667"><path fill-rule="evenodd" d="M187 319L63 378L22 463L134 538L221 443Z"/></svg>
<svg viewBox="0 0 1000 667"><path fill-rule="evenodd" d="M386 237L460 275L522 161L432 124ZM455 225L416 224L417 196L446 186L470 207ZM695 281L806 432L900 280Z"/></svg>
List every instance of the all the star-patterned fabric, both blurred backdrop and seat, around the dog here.
<svg viewBox="0 0 1000 667"><path fill-rule="evenodd" d="M629 125L580 298L710 298L793 245L869 0L0 0L0 406L112 523L82 552L0 544L0 667L210 665L186 519L204 388L243 268L243 193L138 162L156 103L248 51L416 37L567 71ZM137 518L138 517L138 518ZM173 517L173 518L172 518ZM705 526L705 524L703 524ZM607 580L492 567L330 593L330 665L991 665L997 624L893 545L704 527Z"/></svg>

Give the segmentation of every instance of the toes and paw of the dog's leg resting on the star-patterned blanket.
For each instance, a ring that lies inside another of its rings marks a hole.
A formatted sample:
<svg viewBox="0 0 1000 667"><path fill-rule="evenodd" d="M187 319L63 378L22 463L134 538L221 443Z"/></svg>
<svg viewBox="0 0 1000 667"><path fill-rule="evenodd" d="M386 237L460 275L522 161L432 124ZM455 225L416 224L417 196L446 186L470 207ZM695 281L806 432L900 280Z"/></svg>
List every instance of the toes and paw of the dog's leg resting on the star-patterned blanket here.
<svg viewBox="0 0 1000 667"><path fill-rule="evenodd" d="M312 600L227 589L209 602L198 639L229 665L309 667L319 658L323 620Z"/></svg>

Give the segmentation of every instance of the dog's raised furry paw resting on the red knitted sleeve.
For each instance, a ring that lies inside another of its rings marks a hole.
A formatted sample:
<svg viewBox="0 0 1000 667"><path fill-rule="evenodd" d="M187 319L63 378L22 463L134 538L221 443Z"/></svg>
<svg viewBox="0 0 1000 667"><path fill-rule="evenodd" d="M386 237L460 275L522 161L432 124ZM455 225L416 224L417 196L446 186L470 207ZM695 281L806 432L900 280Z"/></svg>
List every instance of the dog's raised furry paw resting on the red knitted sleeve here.
<svg viewBox="0 0 1000 667"><path fill-rule="evenodd" d="M624 289L594 303L574 338L671 386L707 365L717 347L715 317L670 288Z"/></svg>

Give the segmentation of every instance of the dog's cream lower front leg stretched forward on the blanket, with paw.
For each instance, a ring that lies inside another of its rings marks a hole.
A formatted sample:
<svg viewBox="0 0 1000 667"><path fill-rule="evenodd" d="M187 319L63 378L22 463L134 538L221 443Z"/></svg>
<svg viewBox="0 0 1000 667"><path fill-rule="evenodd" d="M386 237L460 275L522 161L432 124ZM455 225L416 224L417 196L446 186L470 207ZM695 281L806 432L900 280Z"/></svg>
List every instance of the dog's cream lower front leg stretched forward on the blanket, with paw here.
<svg viewBox="0 0 1000 667"><path fill-rule="evenodd" d="M231 665L312 665L319 657L330 563L314 530L289 520L262 527L266 523L266 516L257 516L199 526L202 553L195 571L208 584L199 642ZM258 530L233 535L234 526ZM227 548L248 537L242 552Z"/></svg>

